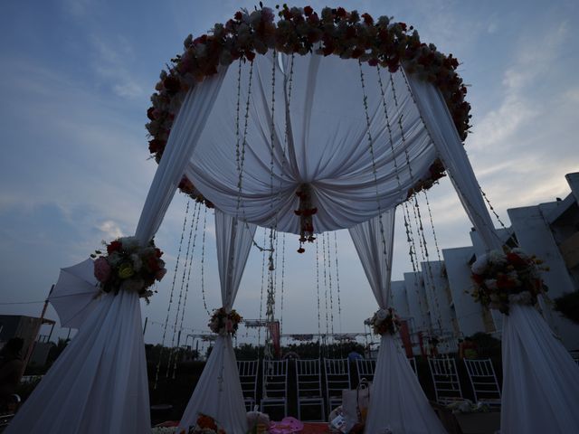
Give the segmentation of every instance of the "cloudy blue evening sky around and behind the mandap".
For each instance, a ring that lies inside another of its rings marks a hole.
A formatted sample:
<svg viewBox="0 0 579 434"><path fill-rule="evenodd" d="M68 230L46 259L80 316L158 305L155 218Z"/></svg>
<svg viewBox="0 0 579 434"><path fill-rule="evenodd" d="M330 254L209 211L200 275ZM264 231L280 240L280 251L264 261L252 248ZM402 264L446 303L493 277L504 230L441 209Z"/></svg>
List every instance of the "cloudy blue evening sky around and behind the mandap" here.
<svg viewBox="0 0 579 434"><path fill-rule="evenodd" d="M145 123L159 71L182 51L187 34L206 33L239 8L252 9L257 3L6 0L0 4L0 314L38 316L60 268L86 259L103 240L134 232L157 167L148 158ZM565 174L579 169L576 1L309 5L318 11L325 5L342 5L375 17L394 16L412 24L423 42L460 60L459 72L469 84L473 108L465 146L479 184L504 222L508 224L508 208L550 202L569 193ZM440 248L468 245L470 222L448 179L432 189L429 199ZM185 197L176 194L157 233L157 246L166 251L170 271L150 305L142 304L143 318L148 318L146 343L162 340L185 203ZM401 221L394 241L394 279L412 270ZM256 239L262 236L258 231ZM432 237L430 232L428 236ZM347 232L336 233L338 267L331 250L326 285L323 264L316 278L315 249L295 253L295 238L286 236L285 255L279 250L285 278L280 309L278 276L277 316L282 318L283 333L331 329L327 324L332 316L335 332L363 331L363 319L376 306ZM211 213L205 242L201 240L200 232L184 333L207 330L203 294L207 307L220 306ZM333 249L333 233L328 240ZM432 238L428 240L432 246ZM252 250L237 297L235 307L246 318L264 312L261 260L261 253ZM177 270L175 300L181 273ZM331 298L325 297L330 274ZM168 322L180 326L180 317L175 323L177 304L173 303ZM52 307L47 316L58 319ZM56 336L67 332L57 327ZM242 330L239 339L252 341L256 334ZM171 340L175 336L169 328L166 342Z"/></svg>

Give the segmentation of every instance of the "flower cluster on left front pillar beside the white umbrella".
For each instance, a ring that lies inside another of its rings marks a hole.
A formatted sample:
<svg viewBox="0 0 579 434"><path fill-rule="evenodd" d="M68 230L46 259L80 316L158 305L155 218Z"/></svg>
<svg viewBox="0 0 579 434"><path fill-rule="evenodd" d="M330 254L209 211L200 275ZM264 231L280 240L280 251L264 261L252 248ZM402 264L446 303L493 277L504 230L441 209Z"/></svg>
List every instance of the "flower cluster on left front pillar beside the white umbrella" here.
<svg viewBox="0 0 579 434"><path fill-rule="evenodd" d="M104 244L106 253L96 250L90 255L95 259L94 277L100 289L115 295L123 290L137 292L140 297L152 296L148 288L166 274L163 252L155 242L143 247L135 237L122 237Z"/></svg>

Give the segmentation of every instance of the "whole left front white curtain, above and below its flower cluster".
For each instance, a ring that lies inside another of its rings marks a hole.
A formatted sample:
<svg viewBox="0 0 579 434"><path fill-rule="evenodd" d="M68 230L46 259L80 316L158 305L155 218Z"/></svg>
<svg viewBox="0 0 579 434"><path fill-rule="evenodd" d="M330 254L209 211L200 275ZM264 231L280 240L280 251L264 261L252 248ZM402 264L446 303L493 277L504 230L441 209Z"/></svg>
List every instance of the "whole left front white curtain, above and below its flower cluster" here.
<svg viewBox="0 0 579 434"><path fill-rule="evenodd" d="M136 236L143 244L153 238L163 220L224 73L221 71L187 93L138 222ZM94 281L90 268L85 279ZM120 291L117 296L101 296L79 333L5 432L149 432L147 362L141 327L136 293Z"/></svg>

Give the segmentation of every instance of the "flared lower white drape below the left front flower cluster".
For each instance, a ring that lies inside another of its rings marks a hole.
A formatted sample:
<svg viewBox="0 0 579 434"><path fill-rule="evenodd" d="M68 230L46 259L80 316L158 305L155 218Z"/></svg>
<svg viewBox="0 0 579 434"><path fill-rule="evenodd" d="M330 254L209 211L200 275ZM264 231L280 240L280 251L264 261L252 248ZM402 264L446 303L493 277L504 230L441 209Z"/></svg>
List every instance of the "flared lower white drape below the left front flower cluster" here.
<svg viewBox="0 0 579 434"><path fill-rule="evenodd" d="M102 296L8 434L150 431L147 363L136 293Z"/></svg>

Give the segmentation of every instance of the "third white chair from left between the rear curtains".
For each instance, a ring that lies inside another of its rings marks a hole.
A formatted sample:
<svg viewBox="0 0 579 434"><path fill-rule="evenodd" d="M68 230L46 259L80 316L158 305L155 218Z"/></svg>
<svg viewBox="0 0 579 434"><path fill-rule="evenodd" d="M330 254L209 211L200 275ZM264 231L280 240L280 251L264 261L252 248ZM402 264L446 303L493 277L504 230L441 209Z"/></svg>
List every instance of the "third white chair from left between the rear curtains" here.
<svg viewBox="0 0 579 434"><path fill-rule="evenodd" d="M322 373L319 359L296 360L296 386L298 394L298 419L301 417L301 408L319 408L319 419L326 420L324 411L324 397L322 396Z"/></svg>

